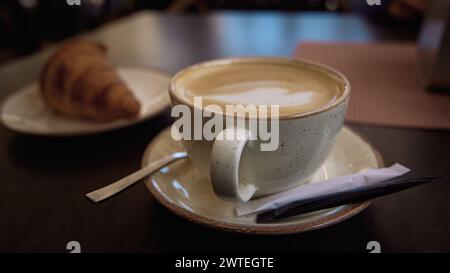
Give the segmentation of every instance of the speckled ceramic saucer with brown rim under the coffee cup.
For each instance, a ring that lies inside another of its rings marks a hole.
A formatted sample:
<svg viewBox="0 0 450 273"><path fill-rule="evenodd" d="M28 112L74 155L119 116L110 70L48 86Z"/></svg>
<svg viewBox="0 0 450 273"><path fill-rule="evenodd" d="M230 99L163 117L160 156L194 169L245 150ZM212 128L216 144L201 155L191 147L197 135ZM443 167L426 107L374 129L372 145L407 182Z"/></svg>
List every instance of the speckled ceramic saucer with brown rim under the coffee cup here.
<svg viewBox="0 0 450 273"><path fill-rule="evenodd" d="M170 136L170 128L161 132L147 147L142 165L170 153L183 150L180 141ZM372 146L344 127L322 167L311 183L368 168L381 167L382 161ZM165 207L190 221L213 228L255 234L298 233L341 222L369 206L370 202L349 204L268 224L255 223L255 215L238 217L236 203L217 197L208 179L201 178L189 159L176 162L149 177L145 183L152 195Z"/></svg>

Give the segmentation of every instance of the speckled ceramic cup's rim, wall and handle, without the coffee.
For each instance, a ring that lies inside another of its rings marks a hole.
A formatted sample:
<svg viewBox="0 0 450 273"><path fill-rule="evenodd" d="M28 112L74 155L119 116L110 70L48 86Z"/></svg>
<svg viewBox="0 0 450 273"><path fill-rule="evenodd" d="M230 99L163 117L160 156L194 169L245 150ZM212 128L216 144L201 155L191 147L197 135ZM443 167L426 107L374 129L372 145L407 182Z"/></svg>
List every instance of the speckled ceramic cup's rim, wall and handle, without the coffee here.
<svg viewBox="0 0 450 273"><path fill-rule="evenodd" d="M333 68L304 60L267 57L215 60L188 67L172 78L169 90L172 105L186 105L192 113L201 110L177 94L180 87L177 79L190 70L237 62L286 63L303 69L306 67L329 76L342 87L342 92L332 103L314 111L280 114L279 146L274 151L261 151L258 145L261 140L249 141L246 123L245 127L228 127L218 134L233 130L242 136L234 140L184 140L189 158L200 174L210 178L218 196L236 201L247 201L307 183L327 158L342 128L350 97L347 78ZM248 117L245 119L248 121ZM207 120L204 118L203 124Z"/></svg>

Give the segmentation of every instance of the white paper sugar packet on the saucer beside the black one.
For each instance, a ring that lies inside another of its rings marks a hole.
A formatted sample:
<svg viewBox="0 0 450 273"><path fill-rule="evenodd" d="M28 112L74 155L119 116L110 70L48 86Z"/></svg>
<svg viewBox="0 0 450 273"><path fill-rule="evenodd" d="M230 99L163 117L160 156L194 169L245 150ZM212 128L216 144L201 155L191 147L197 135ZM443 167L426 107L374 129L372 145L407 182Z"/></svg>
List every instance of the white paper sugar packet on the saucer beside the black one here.
<svg viewBox="0 0 450 273"><path fill-rule="evenodd" d="M360 173L301 185L291 190L238 204L236 206L236 214L244 216L252 213L261 213L293 201L374 185L404 175L409 171L408 168L397 163L389 168L370 169Z"/></svg>

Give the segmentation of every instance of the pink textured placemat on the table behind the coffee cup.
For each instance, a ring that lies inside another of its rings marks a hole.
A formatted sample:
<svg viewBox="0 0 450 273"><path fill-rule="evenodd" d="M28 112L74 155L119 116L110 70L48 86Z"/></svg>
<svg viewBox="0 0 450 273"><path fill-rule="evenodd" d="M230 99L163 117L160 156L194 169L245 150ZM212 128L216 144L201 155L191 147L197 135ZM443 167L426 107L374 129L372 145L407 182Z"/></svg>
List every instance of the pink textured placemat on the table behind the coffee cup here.
<svg viewBox="0 0 450 273"><path fill-rule="evenodd" d="M306 42L294 55L330 65L348 77L350 123L450 129L450 92L429 92L420 85L412 43Z"/></svg>

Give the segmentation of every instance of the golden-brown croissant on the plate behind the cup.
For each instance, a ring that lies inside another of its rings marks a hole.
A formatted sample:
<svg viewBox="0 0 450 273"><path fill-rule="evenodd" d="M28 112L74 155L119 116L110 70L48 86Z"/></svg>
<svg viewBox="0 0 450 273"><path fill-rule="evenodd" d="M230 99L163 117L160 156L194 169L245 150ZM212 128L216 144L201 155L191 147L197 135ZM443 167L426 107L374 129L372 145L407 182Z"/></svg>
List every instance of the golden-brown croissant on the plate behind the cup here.
<svg viewBox="0 0 450 273"><path fill-rule="evenodd" d="M82 39L62 45L40 80L44 100L56 112L96 121L136 117L140 103L108 63L105 46Z"/></svg>

